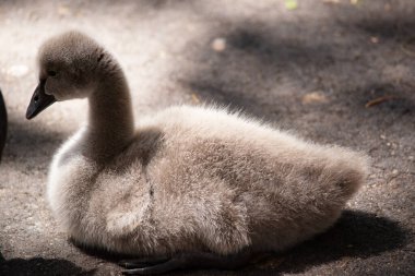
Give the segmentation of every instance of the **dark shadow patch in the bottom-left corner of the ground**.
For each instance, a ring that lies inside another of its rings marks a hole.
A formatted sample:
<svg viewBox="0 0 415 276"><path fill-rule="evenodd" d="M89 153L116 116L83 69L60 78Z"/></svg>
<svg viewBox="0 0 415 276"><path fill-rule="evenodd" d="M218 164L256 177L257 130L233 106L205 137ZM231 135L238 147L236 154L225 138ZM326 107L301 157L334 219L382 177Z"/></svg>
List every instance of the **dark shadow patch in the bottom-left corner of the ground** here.
<svg viewBox="0 0 415 276"><path fill-rule="evenodd" d="M49 276L49 275L94 275L95 269L84 271L75 264L61 259L0 259L0 275Z"/></svg>

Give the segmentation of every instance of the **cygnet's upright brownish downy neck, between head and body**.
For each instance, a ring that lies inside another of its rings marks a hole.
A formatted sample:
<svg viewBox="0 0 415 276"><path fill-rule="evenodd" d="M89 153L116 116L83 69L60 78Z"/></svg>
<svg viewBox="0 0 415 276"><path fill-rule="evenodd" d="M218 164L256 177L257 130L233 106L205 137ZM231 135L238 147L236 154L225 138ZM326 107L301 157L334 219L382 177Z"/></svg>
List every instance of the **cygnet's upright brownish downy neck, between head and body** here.
<svg viewBox="0 0 415 276"><path fill-rule="evenodd" d="M129 87L121 69L112 71L90 95L90 118L84 154L105 163L131 141L134 120Z"/></svg>

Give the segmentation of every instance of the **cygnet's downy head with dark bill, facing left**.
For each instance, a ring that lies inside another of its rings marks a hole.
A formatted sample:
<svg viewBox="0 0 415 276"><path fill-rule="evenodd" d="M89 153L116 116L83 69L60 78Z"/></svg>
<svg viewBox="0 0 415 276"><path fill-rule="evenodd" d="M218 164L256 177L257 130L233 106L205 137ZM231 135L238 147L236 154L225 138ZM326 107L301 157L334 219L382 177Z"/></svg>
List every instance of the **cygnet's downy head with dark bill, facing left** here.
<svg viewBox="0 0 415 276"><path fill-rule="evenodd" d="M103 77L99 68L107 56L103 47L79 32L48 39L38 52L39 84L26 118L34 118L55 101L87 97Z"/></svg>

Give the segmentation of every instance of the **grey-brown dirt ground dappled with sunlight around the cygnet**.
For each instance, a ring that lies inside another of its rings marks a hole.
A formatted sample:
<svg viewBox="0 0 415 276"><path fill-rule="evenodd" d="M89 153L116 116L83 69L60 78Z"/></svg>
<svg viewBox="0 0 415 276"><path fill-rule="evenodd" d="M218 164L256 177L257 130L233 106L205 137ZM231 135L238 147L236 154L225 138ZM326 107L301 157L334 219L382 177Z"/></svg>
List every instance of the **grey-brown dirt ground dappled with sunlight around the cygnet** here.
<svg viewBox="0 0 415 276"><path fill-rule="evenodd" d="M415 275L415 1L285 3L0 1L9 112L0 275L121 273L68 242L44 196L51 156L85 120L86 103L24 118L38 46L69 28L119 59L137 119L175 104L217 103L372 158L367 184L327 233L242 271L174 275Z"/></svg>

